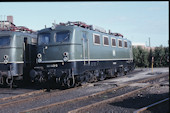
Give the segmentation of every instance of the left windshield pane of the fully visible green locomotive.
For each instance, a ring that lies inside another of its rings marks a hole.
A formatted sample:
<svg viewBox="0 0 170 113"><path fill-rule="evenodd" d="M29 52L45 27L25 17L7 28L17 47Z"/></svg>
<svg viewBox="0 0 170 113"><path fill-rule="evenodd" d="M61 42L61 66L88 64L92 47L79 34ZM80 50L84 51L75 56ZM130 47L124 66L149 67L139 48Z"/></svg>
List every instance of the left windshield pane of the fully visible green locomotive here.
<svg viewBox="0 0 170 113"><path fill-rule="evenodd" d="M38 45L48 44L50 41L50 33L42 33L38 37Z"/></svg>

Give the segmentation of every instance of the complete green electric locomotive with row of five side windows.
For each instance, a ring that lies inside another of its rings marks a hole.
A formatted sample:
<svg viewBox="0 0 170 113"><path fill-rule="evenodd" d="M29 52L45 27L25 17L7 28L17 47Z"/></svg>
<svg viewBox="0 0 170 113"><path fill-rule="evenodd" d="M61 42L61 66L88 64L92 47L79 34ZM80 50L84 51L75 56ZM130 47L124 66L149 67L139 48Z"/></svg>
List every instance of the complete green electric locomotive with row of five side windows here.
<svg viewBox="0 0 170 113"><path fill-rule="evenodd" d="M133 70L132 44L120 33L84 22L54 24L38 32L32 81L53 80L67 88Z"/></svg>

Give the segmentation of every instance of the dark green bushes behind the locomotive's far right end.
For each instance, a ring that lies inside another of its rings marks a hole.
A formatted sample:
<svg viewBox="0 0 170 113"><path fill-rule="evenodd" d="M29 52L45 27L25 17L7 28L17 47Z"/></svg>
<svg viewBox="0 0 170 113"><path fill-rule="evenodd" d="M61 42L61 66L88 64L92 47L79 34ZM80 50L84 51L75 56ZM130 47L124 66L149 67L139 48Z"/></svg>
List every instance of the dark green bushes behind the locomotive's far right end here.
<svg viewBox="0 0 170 113"><path fill-rule="evenodd" d="M154 67L169 66L169 47L156 47L153 51L141 47L133 47L133 58L136 67L151 67L154 57Z"/></svg>

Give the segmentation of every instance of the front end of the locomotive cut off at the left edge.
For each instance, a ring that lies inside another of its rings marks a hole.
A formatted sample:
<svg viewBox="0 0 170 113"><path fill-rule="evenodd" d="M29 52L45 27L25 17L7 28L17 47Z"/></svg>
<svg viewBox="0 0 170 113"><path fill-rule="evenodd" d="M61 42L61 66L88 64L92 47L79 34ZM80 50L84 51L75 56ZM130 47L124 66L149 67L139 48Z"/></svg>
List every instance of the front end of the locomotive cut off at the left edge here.
<svg viewBox="0 0 170 113"><path fill-rule="evenodd" d="M20 55L20 56L19 56ZM20 47L13 33L0 33L0 84L12 85L13 79L22 79L23 66ZM16 78L17 77L17 78Z"/></svg>

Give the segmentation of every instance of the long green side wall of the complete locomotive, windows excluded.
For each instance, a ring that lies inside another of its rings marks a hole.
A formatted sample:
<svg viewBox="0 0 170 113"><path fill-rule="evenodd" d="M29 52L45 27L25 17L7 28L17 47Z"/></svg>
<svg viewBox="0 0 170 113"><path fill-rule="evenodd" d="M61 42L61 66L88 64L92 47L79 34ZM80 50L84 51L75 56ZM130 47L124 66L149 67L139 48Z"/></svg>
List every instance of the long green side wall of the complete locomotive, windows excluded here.
<svg viewBox="0 0 170 113"><path fill-rule="evenodd" d="M76 34L77 33L77 34ZM77 73L83 74L86 71L113 69L115 72L119 67L131 70L133 68L133 55L131 42L127 39L108 35L92 30L77 28L75 33L75 41L81 46L74 48L76 51L74 59L77 65ZM86 33L86 37L83 34ZM94 35L100 38L100 44L95 44ZM108 45L104 45L103 37L108 38ZM116 46L112 47L111 39L116 39ZM122 47L118 47L118 40L122 41ZM124 41L127 42L127 48L124 48ZM129 65L128 65L129 64Z"/></svg>

